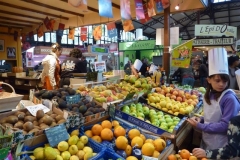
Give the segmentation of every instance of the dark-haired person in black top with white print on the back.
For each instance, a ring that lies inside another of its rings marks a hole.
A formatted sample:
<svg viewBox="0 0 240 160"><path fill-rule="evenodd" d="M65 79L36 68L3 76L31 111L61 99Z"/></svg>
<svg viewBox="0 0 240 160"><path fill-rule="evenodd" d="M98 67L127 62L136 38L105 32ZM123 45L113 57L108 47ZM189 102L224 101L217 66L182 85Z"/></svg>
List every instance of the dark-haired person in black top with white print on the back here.
<svg viewBox="0 0 240 160"><path fill-rule="evenodd" d="M78 48L70 51L67 57L61 64L61 80L60 87L70 85L70 78L73 78L73 73L87 73L87 63L82 58L82 52Z"/></svg>

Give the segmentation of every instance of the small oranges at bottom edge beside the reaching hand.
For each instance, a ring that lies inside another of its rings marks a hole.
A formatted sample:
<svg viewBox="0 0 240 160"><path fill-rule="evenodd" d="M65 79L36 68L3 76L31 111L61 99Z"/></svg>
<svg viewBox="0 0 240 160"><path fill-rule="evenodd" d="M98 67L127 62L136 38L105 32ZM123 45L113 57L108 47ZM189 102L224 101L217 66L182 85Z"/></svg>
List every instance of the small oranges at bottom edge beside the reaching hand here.
<svg viewBox="0 0 240 160"><path fill-rule="evenodd" d="M198 160L187 149L182 149L178 154L171 154L168 156L168 160ZM207 160L202 158L201 160Z"/></svg>

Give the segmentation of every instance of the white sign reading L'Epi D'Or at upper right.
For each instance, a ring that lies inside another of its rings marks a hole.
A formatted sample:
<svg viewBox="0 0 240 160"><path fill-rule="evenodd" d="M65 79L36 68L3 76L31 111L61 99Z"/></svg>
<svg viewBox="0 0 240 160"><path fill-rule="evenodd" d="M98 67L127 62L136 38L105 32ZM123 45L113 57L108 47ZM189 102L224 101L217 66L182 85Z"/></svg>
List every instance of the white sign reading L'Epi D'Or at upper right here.
<svg viewBox="0 0 240 160"><path fill-rule="evenodd" d="M237 27L224 25L195 25L195 36L227 36L237 38Z"/></svg>

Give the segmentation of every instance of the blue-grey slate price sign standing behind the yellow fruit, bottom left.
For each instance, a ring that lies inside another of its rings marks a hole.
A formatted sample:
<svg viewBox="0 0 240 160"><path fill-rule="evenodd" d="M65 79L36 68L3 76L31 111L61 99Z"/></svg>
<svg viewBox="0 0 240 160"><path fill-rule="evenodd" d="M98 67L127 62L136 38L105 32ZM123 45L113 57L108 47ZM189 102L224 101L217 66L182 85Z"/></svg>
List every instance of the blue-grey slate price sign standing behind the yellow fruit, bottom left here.
<svg viewBox="0 0 240 160"><path fill-rule="evenodd" d="M51 147L55 147L59 142L69 138L67 129L63 124L46 129L45 134Z"/></svg>

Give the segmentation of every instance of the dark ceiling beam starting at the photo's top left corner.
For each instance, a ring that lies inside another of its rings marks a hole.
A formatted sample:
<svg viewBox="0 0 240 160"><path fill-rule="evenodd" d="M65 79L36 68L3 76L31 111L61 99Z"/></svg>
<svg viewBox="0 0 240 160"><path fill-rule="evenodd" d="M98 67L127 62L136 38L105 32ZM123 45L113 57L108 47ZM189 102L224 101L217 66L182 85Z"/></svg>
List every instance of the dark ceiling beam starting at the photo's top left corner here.
<svg viewBox="0 0 240 160"><path fill-rule="evenodd" d="M64 17L64 16L61 16L61 15L51 14L51 13L48 13L48 12L43 12L43 11L39 11L39 10L35 10L35 9L30 9L30 8L27 8L27 7L22 7L22 6L18 6L18 5L10 4L10 3L6 3L6 2L1 2L0 1L0 5L11 7L13 9L14 8L15 9L20 9L20 10L23 10L23 11L26 11L26 12L34 12L34 13L38 13L38 14L43 14L43 15L51 16L51 17L55 17L55 18L62 18L62 19L65 19L65 20L69 19L68 17Z"/></svg>

